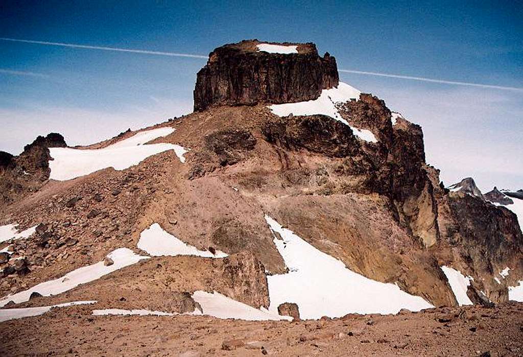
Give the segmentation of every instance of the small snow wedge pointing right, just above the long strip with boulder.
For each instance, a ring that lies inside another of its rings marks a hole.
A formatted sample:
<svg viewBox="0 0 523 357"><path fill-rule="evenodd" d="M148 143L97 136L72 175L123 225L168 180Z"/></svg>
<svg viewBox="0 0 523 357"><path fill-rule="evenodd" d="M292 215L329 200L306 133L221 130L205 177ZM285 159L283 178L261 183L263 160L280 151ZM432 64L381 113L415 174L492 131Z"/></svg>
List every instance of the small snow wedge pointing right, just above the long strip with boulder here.
<svg viewBox="0 0 523 357"><path fill-rule="evenodd" d="M212 254L209 250L199 250L196 247L188 245L163 230L158 224L154 223L140 234L138 248L145 250L152 256L197 256L206 258L224 258L228 254L217 250Z"/></svg>

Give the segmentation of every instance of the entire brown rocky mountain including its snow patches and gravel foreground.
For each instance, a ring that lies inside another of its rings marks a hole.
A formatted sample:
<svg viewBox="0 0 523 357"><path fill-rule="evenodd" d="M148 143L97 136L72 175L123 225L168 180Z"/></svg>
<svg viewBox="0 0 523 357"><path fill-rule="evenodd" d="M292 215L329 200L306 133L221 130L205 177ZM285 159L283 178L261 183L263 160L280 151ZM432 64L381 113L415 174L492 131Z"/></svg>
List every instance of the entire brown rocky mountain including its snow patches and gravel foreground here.
<svg viewBox="0 0 523 357"><path fill-rule="evenodd" d="M215 49L194 109L0 153L0 354L523 351L520 191L445 187L312 43Z"/></svg>

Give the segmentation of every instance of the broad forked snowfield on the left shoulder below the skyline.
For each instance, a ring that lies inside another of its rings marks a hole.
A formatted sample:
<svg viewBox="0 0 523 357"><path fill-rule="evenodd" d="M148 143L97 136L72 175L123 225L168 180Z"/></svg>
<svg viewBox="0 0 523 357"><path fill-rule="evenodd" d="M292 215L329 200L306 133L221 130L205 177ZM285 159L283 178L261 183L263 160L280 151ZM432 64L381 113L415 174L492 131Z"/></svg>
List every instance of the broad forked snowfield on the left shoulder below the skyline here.
<svg viewBox="0 0 523 357"><path fill-rule="evenodd" d="M180 162L185 163L184 154L188 151L180 145L167 143L145 143L174 132L174 128L158 128L142 131L128 139L101 149L79 150L69 147L50 147L53 160L49 160L51 169L50 179L70 180L76 177L92 174L95 171L112 167L115 170L124 170L138 165L149 156L174 150Z"/></svg>

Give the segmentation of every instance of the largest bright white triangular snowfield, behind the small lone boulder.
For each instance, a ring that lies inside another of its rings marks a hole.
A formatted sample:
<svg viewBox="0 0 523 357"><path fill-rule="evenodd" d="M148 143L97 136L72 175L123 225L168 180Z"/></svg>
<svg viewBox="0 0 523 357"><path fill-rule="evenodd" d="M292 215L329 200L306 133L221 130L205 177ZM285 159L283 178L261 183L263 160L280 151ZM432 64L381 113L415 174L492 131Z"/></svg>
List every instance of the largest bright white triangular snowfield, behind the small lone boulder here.
<svg viewBox="0 0 523 357"><path fill-rule="evenodd" d="M300 317L319 319L349 313L395 314L402 308L419 311L434 307L395 284L374 281L347 269L342 261L316 249L271 217L266 215L265 220L271 231L283 238L275 235L274 243L289 268L287 274L267 277L269 311L277 312L278 305L285 302L296 303Z"/></svg>

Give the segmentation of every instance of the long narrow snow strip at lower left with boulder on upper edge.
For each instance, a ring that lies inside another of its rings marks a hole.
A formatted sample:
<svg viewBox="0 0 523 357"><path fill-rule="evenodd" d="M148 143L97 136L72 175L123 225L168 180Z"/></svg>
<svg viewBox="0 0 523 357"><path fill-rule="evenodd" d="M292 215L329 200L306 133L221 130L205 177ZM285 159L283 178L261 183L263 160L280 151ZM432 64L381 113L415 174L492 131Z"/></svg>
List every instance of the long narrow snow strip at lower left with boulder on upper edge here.
<svg viewBox="0 0 523 357"><path fill-rule="evenodd" d="M0 307L7 304L9 301L15 303L21 303L29 300L31 293L38 292L43 296L50 296L63 293L65 291L73 289L80 284L85 284L90 281L99 279L106 274L112 273L123 267L130 266L131 264L137 263L142 259L148 259L149 257L140 256L135 254L131 249L118 248L113 250L107 255L114 262L110 266L105 266L103 261L96 264L78 268L73 270L63 277L46 281L31 287L31 289L21 291L13 295L7 295L0 300Z"/></svg>

